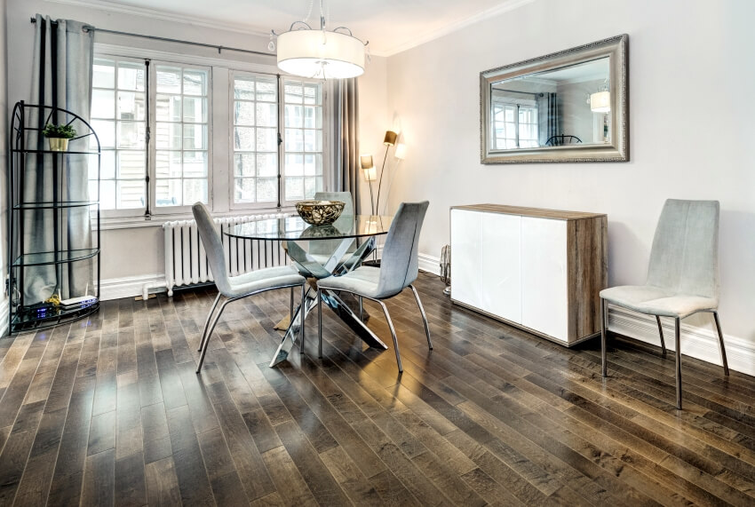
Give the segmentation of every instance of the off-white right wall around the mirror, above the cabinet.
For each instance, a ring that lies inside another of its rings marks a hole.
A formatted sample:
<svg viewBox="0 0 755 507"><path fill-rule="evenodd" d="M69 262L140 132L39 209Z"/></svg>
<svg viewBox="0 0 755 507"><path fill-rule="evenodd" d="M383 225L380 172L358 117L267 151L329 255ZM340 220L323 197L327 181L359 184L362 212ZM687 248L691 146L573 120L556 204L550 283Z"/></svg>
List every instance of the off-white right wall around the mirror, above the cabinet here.
<svg viewBox="0 0 755 507"><path fill-rule="evenodd" d="M412 153L391 209L430 201L420 251L434 257L456 204L608 213L616 285L644 281L666 198L718 199L722 325L755 344L752 20L750 0L536 0L390 57L388 112ZM632 162L481 165L481 71L623 33ZM709 315L688 321L711 327Z"/></svg>

